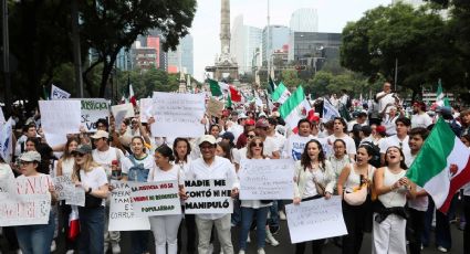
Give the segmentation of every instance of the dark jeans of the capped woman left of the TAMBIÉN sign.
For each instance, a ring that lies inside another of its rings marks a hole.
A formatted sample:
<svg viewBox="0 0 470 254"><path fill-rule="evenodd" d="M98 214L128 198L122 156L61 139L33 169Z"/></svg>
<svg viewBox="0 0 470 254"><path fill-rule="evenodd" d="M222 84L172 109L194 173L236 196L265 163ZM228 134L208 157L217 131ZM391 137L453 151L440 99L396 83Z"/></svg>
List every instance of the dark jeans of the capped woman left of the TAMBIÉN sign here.
<svg viewBox="0 0 470 254"><path fill-rule="evenodd" d="M80 246L79 253L104 253L104 207L79 208Z"/></svg>

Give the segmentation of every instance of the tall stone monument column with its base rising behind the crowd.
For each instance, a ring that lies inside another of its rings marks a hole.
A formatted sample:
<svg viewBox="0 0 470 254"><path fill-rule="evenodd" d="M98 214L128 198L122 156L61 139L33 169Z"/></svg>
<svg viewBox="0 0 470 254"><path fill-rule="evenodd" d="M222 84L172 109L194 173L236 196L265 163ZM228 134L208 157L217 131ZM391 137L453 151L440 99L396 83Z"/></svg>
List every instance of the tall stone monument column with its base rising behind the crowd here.
<svg viewBox="0 0 470 254"><path fill-rule="evenodd" d="M215 66L207 66L206 72L213 73L213 80L231 80L239 83L238 64L230 54L230 0L221 0L220 9L220 55L216 56Z"/></svg>

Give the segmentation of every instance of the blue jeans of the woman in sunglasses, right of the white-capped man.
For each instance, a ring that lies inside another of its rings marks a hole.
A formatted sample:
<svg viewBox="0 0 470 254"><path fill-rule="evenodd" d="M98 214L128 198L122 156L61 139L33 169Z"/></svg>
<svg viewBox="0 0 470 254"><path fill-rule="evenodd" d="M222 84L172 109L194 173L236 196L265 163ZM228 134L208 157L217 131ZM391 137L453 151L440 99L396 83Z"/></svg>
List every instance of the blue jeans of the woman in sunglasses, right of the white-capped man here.
<svg viewBox="0 0 470 254"><path fill-rule="evenodd" d="M254 215L257 215L257 246L258 248L264 247L269 208L270 207L259 209L241 208L240 250L247 251L247 237L250 233L250 226Z"/></svg>

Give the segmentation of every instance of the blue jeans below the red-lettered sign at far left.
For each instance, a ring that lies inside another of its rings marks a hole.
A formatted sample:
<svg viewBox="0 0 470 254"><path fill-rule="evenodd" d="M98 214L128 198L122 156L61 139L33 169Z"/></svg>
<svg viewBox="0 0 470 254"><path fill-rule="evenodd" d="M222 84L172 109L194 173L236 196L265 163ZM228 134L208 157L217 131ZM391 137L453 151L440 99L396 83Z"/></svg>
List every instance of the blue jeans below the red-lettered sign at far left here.
<svg viewBox="0 0 470 254"><path fill-rule="evenodd" d="M55 213L49 213L49 224L15 226L18 243L23 254L49 254L54 237Z"/></svg>

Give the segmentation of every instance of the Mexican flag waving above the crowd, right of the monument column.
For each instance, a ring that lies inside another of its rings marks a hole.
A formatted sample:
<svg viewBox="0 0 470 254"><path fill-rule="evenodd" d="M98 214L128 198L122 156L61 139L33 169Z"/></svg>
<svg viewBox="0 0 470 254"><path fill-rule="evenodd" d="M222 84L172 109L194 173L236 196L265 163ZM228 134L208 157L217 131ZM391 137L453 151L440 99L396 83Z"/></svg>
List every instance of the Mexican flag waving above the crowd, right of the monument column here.
<svg viewBox="0 0 470 254"><path fill-rule="evenodd" d="M310 103L306 100L303 92L303 87L299 86L291 97L282 104L279 108L279 113L292 131L296 133L299 120L305 118L306 114L311 109Z"/></svg>

